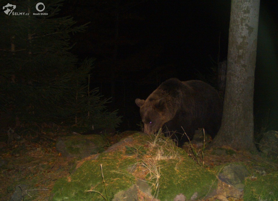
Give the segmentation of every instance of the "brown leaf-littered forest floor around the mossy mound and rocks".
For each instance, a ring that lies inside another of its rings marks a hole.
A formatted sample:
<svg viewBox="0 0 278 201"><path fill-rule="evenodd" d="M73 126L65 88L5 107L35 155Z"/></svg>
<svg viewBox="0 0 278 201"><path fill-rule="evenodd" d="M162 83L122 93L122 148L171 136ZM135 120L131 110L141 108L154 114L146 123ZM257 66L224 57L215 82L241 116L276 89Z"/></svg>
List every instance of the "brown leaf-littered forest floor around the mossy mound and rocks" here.
<svg viewBox="0 0 278 201"><path fill-rule="evenodd" d="M0 138L0 200L8 201L15 192L16 186L25 186L27 196L24 200L49 200L51 190L57 181L62 177L67 177L78 165L80 159L66 158L61 156L55 149L55 142L58 136L66 135L66 131L48 132L37 135L24 135L20 140L14 140L7 145L4 138ZM2 135L0 135L2 136ZM115 134L106 136L108 144L111 146L126 135ZM183 149L202 165L202 146L192 144L198 156L194 157L192 149L184 146ZM229 148L230 149L230 148ZM236 154L235 154L236 153ZM215 155L211 151L204 152L204 167L211 169L214 166L231 162L243 162L249 164L251 161L258 163L267 163L268 167L277 171L277 164L265 161L258 155L252 155L248 152L232 151L231 154ZM266 170L267 171L267 170ZM222 188L223 196L229 191L229 185L219 184ZM223 190L224 189L224 190ZM225 190L226 189L226 190ZM218 189L219 191L220 189ZM226 200L243 200L243 192L235 193L238 197L229 197ZM217 200L217 199L210 199Z"/></svg>

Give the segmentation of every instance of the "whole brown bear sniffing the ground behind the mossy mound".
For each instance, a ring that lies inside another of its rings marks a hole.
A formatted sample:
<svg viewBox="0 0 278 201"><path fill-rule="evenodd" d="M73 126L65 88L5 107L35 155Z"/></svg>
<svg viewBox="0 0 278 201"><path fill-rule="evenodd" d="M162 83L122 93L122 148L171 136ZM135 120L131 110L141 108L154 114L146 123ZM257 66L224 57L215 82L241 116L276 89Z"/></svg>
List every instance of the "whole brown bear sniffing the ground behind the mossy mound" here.
<svg viewBox="0 0 278 201"><path fill-rule="evenodd" d="M200 80L168 79L146 100L137 98L135 103L140 107L145 133L162 128L180 147L188 141L187 136L193 138L196 129L205 128L213 138L221 125L222 101L211 85Z"/></svg>

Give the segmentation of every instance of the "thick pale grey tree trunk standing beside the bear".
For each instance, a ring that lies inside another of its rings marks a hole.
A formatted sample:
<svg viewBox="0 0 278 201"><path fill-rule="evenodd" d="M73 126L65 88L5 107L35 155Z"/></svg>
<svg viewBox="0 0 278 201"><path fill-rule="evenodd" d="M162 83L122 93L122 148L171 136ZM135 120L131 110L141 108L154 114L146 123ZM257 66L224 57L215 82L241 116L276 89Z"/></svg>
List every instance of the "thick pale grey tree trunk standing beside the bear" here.
<svg viewBox="0 0 278 201"><path fill-rule="evenodd" d="M212 146L255 150L253 94L259 0L232 0L221 128Z"/></svg>

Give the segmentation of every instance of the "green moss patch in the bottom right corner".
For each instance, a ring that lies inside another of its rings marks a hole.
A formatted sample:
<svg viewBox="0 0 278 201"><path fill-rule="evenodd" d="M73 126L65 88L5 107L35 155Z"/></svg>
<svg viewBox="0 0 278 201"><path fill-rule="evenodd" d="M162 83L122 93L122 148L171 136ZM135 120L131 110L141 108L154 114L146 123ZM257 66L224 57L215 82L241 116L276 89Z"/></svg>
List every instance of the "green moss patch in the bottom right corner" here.
<svg viewBox="0 0 278 201"><path fill-rule="evenodd" d="M278 172L260 175L255 181L246 180L244 201L253 200L278 200Z"/></svg>

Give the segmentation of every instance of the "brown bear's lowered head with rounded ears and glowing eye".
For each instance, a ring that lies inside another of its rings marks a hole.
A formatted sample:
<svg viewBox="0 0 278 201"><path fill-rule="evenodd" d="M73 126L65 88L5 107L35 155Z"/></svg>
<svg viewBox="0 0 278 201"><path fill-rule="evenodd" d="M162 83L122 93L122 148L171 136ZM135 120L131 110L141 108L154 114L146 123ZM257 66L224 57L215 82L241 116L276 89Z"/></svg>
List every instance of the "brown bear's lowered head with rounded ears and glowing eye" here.
<svg viewBox="0 0 278 201"><path fill-rule="evenodd" d="M165 98L159 100L136 98L135 103L140 107L140 115L144 123L144 133L155 133L168 122L167 104Z"/></svg>

